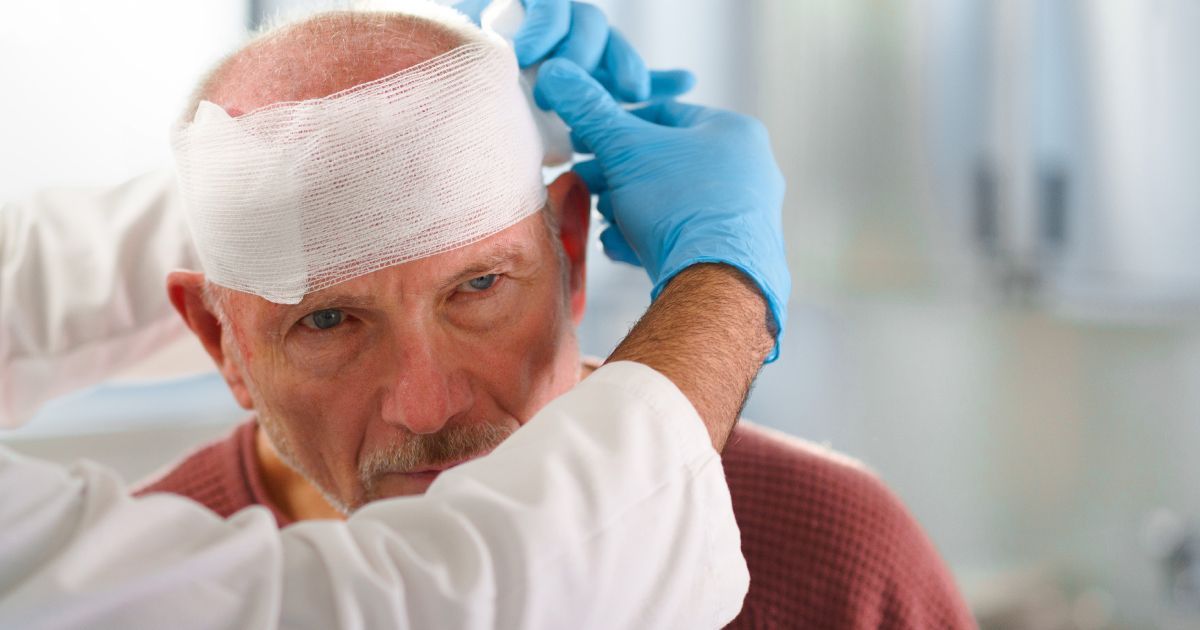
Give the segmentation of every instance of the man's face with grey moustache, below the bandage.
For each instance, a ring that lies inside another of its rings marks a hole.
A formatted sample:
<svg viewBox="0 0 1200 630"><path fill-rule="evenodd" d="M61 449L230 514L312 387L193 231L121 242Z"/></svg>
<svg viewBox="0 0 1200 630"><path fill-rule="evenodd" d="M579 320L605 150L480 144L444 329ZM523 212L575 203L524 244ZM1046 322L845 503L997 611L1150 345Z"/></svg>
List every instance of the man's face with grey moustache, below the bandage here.
<svg viewBox="0 0 1200 630"><path fill-rule="evenodd" d="M577 382L582 281L556 238L534 215L298 305L229 292L226 377L338 508L425 492Z"/></svg>

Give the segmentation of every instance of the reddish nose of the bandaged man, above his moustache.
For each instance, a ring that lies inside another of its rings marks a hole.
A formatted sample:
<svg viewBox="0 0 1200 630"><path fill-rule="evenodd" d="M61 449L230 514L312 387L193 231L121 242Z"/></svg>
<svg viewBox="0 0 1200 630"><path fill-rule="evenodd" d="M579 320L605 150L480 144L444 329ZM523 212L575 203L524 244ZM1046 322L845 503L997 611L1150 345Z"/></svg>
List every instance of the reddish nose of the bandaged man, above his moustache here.
<svg viewBox="0 0 1200 630"><path fill-rule="evenodd" d="M470 384L427 338L404 343L383 400L383 420L413 433L436 433L472 404Z"/></svg>

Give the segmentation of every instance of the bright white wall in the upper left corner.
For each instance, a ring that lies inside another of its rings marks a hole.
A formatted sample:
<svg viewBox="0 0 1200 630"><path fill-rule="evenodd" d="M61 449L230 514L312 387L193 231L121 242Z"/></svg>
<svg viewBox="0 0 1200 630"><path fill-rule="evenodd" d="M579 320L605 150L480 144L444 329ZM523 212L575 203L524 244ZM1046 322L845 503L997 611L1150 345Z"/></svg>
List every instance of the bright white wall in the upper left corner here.
<svg viewBox="0 0 1200 630"><path fill-rule="evenodd" d="M245 0L0 4L0 194L113 184L163 163L196 79L245 23Z"/></svg>

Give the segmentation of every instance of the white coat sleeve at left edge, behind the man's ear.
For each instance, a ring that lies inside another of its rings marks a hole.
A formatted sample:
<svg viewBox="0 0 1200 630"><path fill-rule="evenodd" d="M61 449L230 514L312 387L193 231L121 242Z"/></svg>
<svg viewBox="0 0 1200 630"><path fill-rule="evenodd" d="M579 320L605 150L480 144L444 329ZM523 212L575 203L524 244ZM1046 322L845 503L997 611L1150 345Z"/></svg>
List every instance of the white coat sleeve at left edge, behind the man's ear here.
<svg viewBox="0 0 1200 630"><path fill-rule="evenodd" d="M170 169L0 205L0 427L181 335L167 272L196 269Z"/></svg>

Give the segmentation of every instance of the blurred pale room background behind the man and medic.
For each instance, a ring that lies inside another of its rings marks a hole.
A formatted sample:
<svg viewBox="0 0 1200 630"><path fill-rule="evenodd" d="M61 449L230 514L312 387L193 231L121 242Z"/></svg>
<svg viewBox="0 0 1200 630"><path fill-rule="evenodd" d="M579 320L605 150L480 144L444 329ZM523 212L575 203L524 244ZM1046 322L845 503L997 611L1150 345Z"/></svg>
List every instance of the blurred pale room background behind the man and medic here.
<svg viewBox="0 0 1200 630"><path fill-rule="evenodd" d="M985 629L1200 628L1200 2L598 4L772 131L796 290L746 416L876 470ZM206 67L340 5L5 2L0 194L167 164ZM605 355L649 284L589 274ZM208 365L163 348L0 439L140 479L244 416Z"/></svg>

